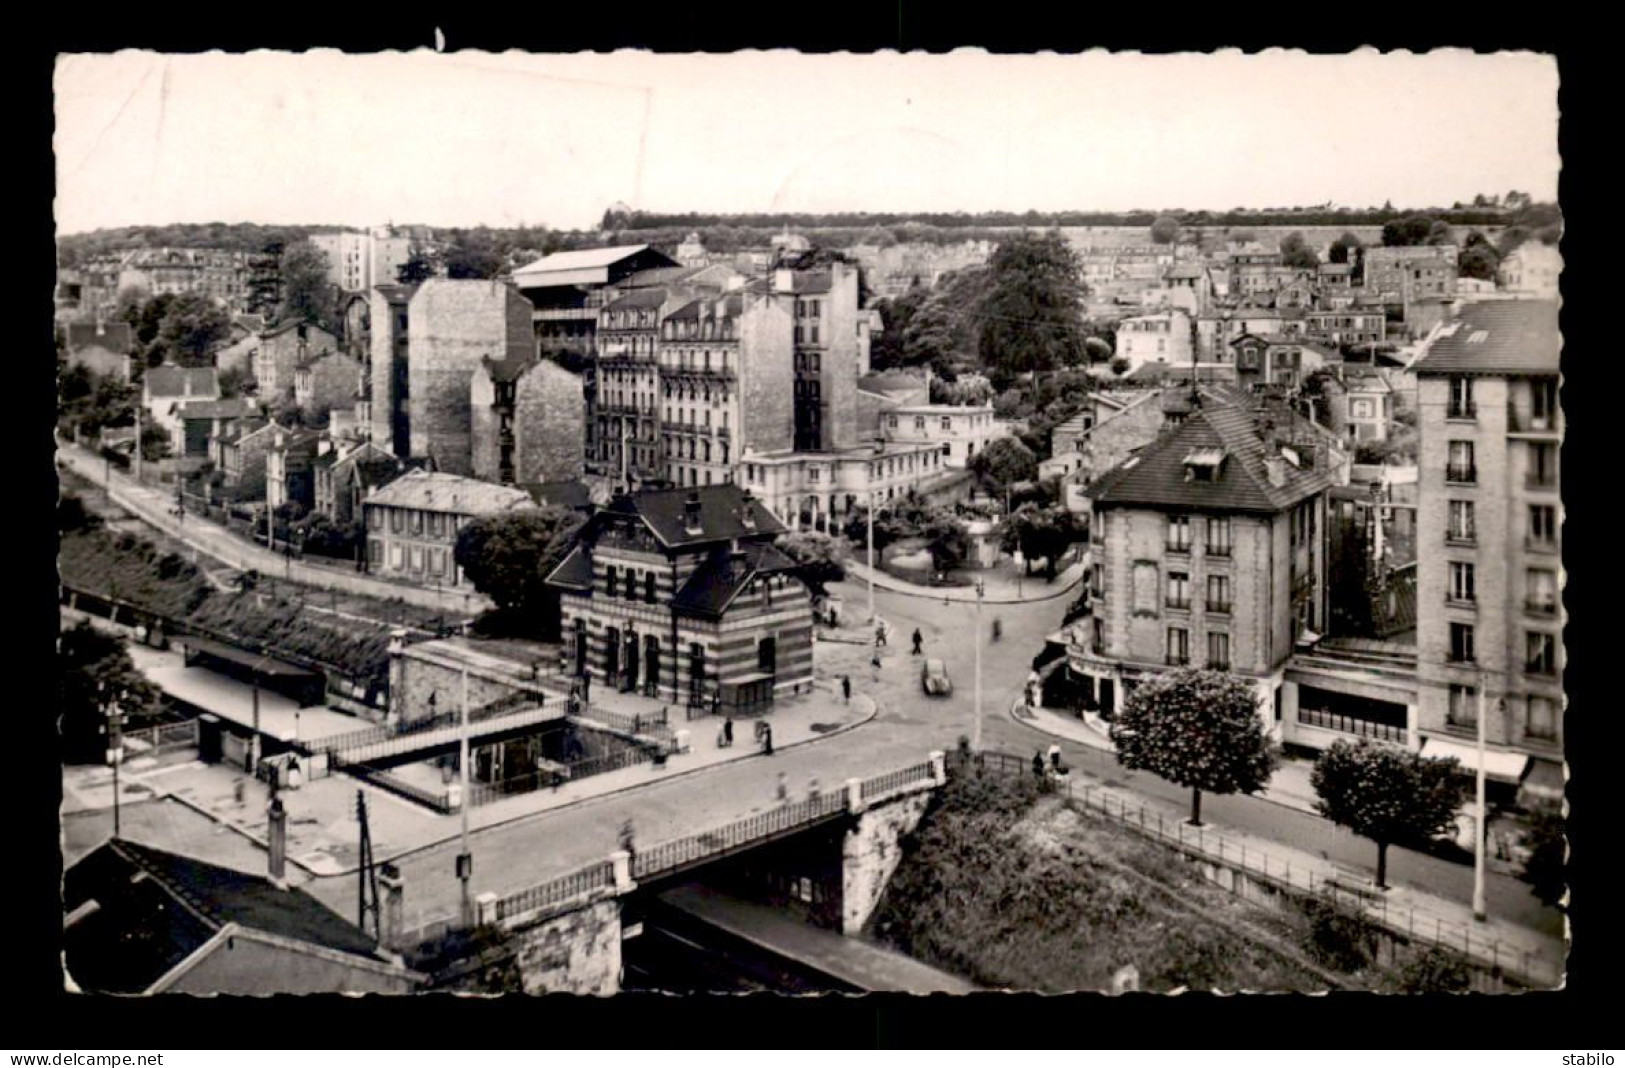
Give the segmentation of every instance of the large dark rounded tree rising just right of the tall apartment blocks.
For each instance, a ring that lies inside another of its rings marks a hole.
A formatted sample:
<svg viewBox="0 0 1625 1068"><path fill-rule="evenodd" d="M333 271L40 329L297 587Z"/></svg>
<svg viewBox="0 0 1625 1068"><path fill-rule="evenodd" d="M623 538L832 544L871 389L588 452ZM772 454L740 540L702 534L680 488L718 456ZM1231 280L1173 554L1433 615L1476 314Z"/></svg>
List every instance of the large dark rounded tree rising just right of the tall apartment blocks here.
<svg viewBox="0 0 1625 1068"><path fill-rule="evenodd" d="M988 262L977 349L983 364L1017 376L1074 366L1084 358L1082 262L1060 234L1019 234Z"/></svg>

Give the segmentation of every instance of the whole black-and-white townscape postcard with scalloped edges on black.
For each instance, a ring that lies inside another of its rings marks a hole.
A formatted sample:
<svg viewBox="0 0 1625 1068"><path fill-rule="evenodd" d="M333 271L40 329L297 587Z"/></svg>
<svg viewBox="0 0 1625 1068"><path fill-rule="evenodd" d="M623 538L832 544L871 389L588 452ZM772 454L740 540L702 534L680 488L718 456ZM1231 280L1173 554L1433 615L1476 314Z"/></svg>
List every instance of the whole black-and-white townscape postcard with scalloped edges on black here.
<svg viewBox="0 0 1625 1068"><path fill-rule="evenodd" d="M1565 985L1555 57L54 120L63 990Z"/></svg>

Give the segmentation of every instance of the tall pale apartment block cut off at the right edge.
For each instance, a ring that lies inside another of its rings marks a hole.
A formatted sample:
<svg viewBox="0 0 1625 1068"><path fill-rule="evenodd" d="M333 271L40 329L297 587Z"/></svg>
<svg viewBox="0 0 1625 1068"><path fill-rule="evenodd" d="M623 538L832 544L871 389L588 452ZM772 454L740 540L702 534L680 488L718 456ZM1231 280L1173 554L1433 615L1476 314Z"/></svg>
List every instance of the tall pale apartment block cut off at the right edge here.
<svg viewBox="0 0 1625 1068"><path fill-rule="evenodd" d="M1563 502L1557 306L1469 304L1412 369L1420 408L1424 753L1562 790ZM1532 767L1528 767L1532 761Z"/></svg>

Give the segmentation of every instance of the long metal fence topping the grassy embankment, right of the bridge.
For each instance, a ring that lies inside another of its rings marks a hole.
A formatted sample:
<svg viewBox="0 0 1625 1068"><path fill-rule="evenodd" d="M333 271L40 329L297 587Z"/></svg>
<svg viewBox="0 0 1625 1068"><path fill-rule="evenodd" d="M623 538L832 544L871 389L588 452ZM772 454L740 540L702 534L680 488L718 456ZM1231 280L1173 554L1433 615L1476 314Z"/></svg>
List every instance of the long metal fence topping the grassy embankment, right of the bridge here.
<svg viewBox="0 0 1625 1068"><path fill-rule="evenodd" d="M1004 753L985 753L973 758L982 767L1004 775L1032 775L1032 761ZM957 762L964 767L964 761ZM1220 866L1246 873L1250 878L1268 883L1277 889L1297 894L1321 896L1334 907L1357 915L1370 923L1376 923L1396 936L1424 946L1440 946L1459 953L1479 964L1490 966L1497 974L1528 987L1555 987L1563 980L1563 961L1549 954L1510 946L1484 933L1474 933L1471 927L1438 915L1419 914L1415 909L1389 907L1388 897L1375 886L1363 884L1363 873L1350 876L1334 871L1328 875L1315 868L1294 868L1290 862L1276 858L1254 847L1248 852L1245 844L1216 834L1207 827L1193 827L1180 818L1168 818L1160 811L1149 811L1144 803L1129 803L1112 795L1105 787L1087 782L1064 779L1060 788L1074 801L1084 805L1092 813L1152 837L1165 845L1172 845L1188 857L1214 862ZM1225 886L1235 892L1235 886Z"/></svg>

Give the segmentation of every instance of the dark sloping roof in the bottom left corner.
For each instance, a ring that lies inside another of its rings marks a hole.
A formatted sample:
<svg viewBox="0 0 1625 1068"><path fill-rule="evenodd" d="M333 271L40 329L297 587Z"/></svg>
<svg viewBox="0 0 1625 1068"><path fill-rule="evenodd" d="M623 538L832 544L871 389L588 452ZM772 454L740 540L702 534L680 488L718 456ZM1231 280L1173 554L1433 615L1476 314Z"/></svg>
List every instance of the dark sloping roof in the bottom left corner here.
<svg viewBox="0 0 1625 1068"><path fill-rule="evenodd" d="M63 907L84 909L63 931L68 974L96 992L150 988L228 923L379 959L361 928L304 891L122 839L63 873Z"/></svg>

